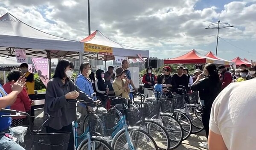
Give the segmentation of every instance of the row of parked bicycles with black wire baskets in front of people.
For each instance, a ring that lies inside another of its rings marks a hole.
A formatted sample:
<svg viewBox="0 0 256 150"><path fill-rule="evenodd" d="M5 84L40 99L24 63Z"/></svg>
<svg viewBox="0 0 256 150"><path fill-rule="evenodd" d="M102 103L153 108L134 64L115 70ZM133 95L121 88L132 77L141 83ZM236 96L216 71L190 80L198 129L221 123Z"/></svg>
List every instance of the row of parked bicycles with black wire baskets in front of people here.
<svg viewBox="0 0 256 150"><path fill-rule="evenodd" d="M172 150L187 139L191 133L203 130L200 105L197 94L183 93L160 98L145 98L134 93L140 101L127 100L118 96L108 96L112 108L108 112L93 111L83 100L68 101L83 103L88 115L84 119L82 133L78 133L78 122L73 123L76 150ZM157 92L154 92L159 94ZM171 93L171 94L170 94ZM157 96L158 97L158 96ZM188 104L195 101L195 104ZM4 110L14 116L28 115L15 110ZM52 116L47 115L48 119ZM67 150L70 133L41 133L48 119L39 130L31 130L32 150ZM31 128L30 128L31 129Z"/></svg>

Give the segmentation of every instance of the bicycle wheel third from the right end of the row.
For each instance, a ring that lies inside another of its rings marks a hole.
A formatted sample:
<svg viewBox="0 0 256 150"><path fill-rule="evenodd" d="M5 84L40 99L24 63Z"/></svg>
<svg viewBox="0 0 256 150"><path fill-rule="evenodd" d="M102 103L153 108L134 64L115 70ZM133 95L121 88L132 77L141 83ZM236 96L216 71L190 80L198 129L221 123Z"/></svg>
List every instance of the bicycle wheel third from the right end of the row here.
<svg viewBox="0 0 256 150"><path fill-rule="evenodd" d="M183 140L183 129L180 122L177 121L173 116L160 114L162 119L163 127L169 134L170 139L170 150L173 150L180 146Z"/></svg>

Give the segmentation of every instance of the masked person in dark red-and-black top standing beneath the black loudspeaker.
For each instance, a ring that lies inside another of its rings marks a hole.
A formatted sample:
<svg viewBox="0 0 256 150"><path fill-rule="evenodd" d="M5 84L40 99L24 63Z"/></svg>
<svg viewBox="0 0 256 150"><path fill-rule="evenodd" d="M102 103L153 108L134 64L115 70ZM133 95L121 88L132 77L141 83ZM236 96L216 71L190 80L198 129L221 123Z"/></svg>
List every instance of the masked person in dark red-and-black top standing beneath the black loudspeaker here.
<svg viewBox="0 0 256 150"><path fill-rule="evenodd" d="M153 88L155 81L157 77L152 74L152 68L148 67L146 69L146 74L144 74L142 78L142 82L144 83L144 95L146 97L152 97L153 96L153 91L148 90L148 88Z"/></svg>

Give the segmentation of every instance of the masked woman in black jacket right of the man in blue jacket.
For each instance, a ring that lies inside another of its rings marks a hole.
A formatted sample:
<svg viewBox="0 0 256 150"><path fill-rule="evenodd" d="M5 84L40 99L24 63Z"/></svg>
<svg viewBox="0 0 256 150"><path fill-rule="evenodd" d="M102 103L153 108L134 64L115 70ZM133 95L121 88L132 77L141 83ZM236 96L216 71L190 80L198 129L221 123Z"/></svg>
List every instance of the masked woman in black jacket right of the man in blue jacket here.
<svg viewBox="0 0 256 150"><path fill-rule="evenodd" d="M102 104L106 107L105 95L108 94L107 85L105 84L104 78L104 71L98 69L96 71L96 81L95 81L95 89L96 89L96 96Z"/></svg>

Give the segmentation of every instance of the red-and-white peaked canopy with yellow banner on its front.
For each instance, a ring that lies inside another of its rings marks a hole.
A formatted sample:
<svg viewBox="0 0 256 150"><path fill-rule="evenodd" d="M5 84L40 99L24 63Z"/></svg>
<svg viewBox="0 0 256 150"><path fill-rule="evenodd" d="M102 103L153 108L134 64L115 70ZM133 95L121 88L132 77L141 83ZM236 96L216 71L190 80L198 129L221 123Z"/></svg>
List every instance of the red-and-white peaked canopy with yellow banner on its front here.
<svg viewBox="0 0 256 150"><path fill-rule="evenodd" d="M113 40L109 39L104 34L102 34L99 30L94 31L90 36L86 37L84 40L81 40L80 42L84 42L84 59L96 59L107 61L114 60L114 56L123 56L128 57L130 59L139 58L138 54L140 54L142 58L149 57L148 50L133 48L114 42ZM98 46L98 48L110 48L112 54L107 54L109 52L107 50L102 53L96 52L96 49L90 49L90 51L86 51L85 47L87 45Z"/></svg>

